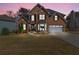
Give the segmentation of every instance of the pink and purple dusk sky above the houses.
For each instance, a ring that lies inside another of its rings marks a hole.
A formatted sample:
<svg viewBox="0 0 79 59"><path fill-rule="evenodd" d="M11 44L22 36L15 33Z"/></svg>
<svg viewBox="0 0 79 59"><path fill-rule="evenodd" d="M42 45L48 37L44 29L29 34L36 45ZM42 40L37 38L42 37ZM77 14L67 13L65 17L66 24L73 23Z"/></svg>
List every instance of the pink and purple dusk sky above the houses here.
<svg viewBox="0 0 79 59"><path fill-rule="evenodd" d="M71 10L79 11L79 3L40 3L45 8L68 14ZM36 3L0 3L0 14L5 14L11 10L16 12L21 7L32 9Z"/></svg>

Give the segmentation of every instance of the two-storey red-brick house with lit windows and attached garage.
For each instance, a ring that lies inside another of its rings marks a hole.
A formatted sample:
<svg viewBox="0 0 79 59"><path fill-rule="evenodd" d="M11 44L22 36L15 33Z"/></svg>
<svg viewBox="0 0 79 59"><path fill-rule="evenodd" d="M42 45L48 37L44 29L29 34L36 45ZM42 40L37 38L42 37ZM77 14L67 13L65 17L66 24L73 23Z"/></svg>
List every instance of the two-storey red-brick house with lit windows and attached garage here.
<svg viewBox="0 0 79 59"><path fill-rule="evenodd" d="M64 14L46 9L37 4L28 13L28 16L21 16L18 21L20 32L63 32L65 26Z"/></svg>

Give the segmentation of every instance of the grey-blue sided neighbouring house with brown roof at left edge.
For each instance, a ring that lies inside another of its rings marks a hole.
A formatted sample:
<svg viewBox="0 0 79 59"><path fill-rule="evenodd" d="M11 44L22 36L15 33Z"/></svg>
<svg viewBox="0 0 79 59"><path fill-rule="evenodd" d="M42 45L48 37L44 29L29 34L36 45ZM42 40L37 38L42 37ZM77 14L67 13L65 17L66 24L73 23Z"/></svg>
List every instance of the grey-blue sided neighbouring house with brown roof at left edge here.
<svg viewBox="0 0 79 59"><path fill-rule="evenodd" d="M15 18L7 15L0 15L0 33L3 28L8 28L10 32L16 31Z"/></svg>

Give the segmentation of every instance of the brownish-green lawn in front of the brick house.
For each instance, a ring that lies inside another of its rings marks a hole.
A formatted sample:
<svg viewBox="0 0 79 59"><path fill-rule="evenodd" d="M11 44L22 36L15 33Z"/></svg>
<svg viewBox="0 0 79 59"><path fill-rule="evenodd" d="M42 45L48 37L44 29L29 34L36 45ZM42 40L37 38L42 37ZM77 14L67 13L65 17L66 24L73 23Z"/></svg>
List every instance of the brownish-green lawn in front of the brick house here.
<svg viewBox="0 0 79 59"><path fill-rule="evenodd" d="M54 36L16 34L0 36L2 55L79 54L79 49Z"/></svg>

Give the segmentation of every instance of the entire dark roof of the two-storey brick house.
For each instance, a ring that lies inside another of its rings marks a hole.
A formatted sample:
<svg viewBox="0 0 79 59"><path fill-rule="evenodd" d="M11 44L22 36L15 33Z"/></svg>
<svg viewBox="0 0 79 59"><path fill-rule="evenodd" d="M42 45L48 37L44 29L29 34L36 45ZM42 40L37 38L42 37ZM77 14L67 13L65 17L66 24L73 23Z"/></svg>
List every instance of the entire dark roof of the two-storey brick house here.
<svg viewBox="0 0 79 59"><path fill-rule="evenodd" d="M47 13L47 15L48 15L49 17L52 17L52 16L55 15L55 14L58 14L62 19L64 19L65 14L63 14L63 13L60 13L60 12L58 12L58 11L54 11L54 10L51 10L51 9L45 9L45 8L44 8L42 5L40 5L39 3L38 3L37 5L35 5L35 6L32 8L32 10L34 10L36 7L41 8L44 12ZM27 13L27 15L25 15L25 14L22 15L22 17L24 17L26 20L29 20L29 13L31 13L32 10L30 10L30 11Z"/></svg>

